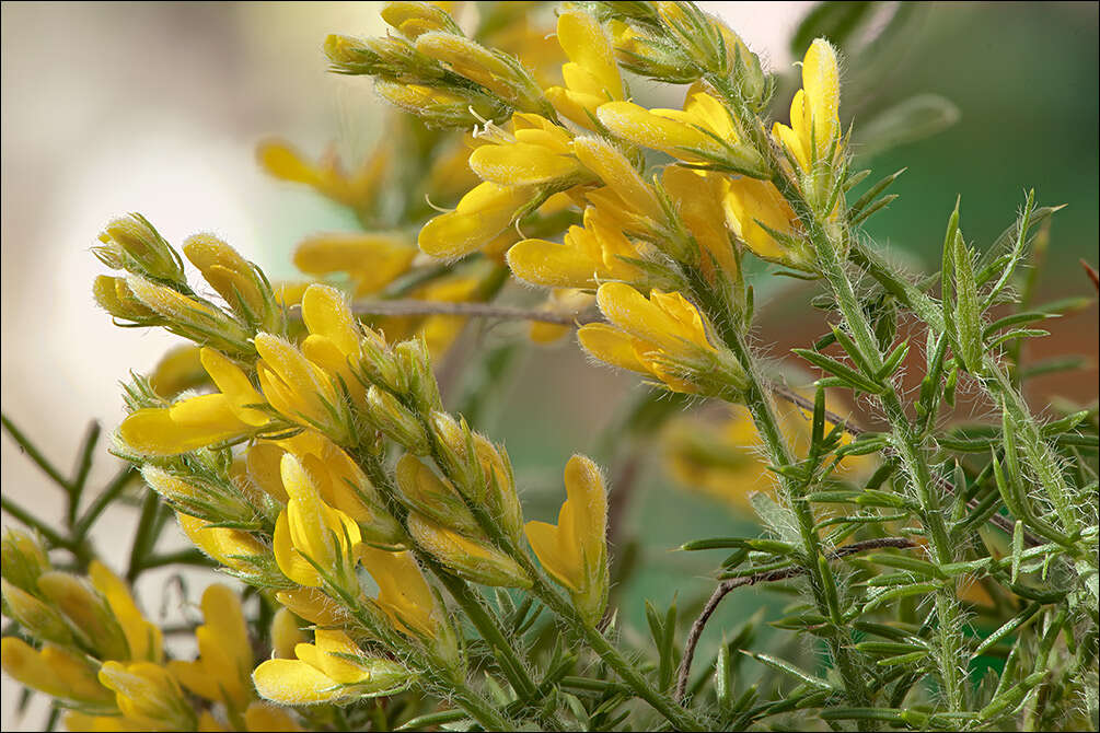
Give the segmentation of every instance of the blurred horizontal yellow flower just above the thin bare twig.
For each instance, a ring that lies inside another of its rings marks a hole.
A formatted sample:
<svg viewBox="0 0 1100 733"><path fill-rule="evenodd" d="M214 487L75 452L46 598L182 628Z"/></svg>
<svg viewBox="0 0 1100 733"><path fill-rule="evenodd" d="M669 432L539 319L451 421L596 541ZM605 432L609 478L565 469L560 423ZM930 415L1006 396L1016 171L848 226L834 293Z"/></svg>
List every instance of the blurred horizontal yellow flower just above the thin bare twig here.
<svg viewBox="0 0 1100 733"><path fill-rule="evenodd" d="M294 265L314 276L346 273L356 298L377 292L408 271L417 249L400 234L318 234L294 251Z"/></svg>

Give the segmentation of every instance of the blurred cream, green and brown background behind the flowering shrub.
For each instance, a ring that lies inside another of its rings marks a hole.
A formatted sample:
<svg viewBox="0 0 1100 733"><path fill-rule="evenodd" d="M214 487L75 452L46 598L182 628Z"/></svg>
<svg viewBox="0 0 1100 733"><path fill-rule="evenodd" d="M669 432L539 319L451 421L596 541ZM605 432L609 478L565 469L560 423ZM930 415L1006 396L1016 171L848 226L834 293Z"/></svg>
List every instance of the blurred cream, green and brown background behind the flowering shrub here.
<svg viewBox="0 0 1100 733"><path fill-rule="evenodd" d="M141 212L175 244L197 231L216 232L275 278L294 275L290 253L305 235L355 229L334 204L266 178L254 148L274 134L310 157L330 143L352 162L370 151L381 102L366 79L327 74L320 44L330 32L383 33L380 4L2 5L2 410L48 458L67 466L89 420L113 429L123 414L119 380L130 369L151 369L174 343L165 334L117 329L95 307L90 285L102 270L89 247L110 219ZM790 68L792 30L813 7L701 4L773 69ZM980 248L1013 221L1034 187L1040 202L1068 204L1054 220L1040 291L1094 295L1078 259L1097 264L1097 4L935 3L925 10L869 92L867 113L935 92L960 116L934 137L865 160L879 175L909 168L893 188L901 198L871 220L868 234L911 267L934 269L957 196L964 231ZM766 301L777 292L768 280L758 288ZM773 297L763 310L758 343L777 358L821 333L821 322L804 316L806 293ZM509 335L508 327L496 337ZM1050 330L1034 352L1084 354L1091 366L1036 381L1031 399L1036 407L1057 395L1093 399L1096 306ZM569 455L597 453L618 406L644 388L631 376L586 364L571 341L530 347L520 359L493 421L480 427L506 440L529 513L540 517L561 501ZM0 451L4 495L59 519L61 498L7 433ZM92 480L110 476L113 464L98 456ZM641 538L638 571L619 589L628 640L644 628L642 599L667 606L679 587L689 608L712 585L714 557L671 548L751 522L747 511L674 487L657 453L634 468L624 532ZM120 510L95 537L116 568L133 522L133 513ZM165 538L164 546L174 541ZM152 599L165 578L150 574L143 582ZM782 599L732 597L711 630L732 626L762 602ZM153 606L146 601L155 617ZM0 728L35 729L33 704L15 719L18 686L9 681Z"/></svg>

